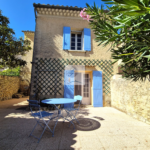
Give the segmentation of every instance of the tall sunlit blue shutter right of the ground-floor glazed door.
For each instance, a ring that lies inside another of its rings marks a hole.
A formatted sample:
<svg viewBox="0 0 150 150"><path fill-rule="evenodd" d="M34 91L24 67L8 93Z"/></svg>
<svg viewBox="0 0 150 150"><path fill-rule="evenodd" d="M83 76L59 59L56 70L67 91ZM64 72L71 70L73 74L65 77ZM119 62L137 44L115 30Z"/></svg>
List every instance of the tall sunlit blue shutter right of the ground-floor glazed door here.
<svg viewBox="0 0 150 150"><path fill-rule="evenodd" d="M93 106L103 107L102 71L93 71Z"/></svg>

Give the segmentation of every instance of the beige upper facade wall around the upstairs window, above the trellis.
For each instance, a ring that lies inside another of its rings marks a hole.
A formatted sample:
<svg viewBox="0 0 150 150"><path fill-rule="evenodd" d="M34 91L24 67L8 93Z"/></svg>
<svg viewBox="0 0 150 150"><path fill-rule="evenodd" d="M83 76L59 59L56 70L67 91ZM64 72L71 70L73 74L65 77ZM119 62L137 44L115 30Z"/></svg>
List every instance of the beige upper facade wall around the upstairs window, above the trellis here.
<svg viewBox="0 0 150 150"><path fill-rule="evenodd" d="M80 12L79 12L80 13ZM63 50L63 27L69 26L71 30L81 31L90 28L89 23L81 17L74 19L68 17L51 17L38 15L36 21L34 58L70 58L70 59L103 59L110 60L110 46L97 46L95 35L91 31L91 51L78 52Z"/></svg>

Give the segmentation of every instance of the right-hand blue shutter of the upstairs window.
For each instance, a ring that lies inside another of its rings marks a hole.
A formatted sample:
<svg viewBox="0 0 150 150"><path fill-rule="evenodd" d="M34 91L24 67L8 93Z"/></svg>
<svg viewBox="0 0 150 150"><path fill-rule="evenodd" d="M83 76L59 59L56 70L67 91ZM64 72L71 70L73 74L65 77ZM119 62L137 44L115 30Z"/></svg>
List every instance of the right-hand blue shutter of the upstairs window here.
<svg viewBox="0 0 150 150"><path fill-rule="evenodd" d="M84 50L91 51L91 30L84 28Z"/></svg>

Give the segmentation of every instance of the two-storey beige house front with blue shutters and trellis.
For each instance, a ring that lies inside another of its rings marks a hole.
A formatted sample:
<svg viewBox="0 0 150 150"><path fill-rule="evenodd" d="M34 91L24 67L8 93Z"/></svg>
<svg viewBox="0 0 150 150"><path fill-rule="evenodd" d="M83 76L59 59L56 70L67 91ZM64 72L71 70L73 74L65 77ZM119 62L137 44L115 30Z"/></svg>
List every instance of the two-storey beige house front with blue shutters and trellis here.
<svg viewBox="0 0 150 150"><path fill-rule="evenodd" d="M112 66L110 47L97 46L83 8L33 4L36 28L31 93L40 99L82 95L83 104L107 106ZM78 84L81 83L81 84Z"/></svg>

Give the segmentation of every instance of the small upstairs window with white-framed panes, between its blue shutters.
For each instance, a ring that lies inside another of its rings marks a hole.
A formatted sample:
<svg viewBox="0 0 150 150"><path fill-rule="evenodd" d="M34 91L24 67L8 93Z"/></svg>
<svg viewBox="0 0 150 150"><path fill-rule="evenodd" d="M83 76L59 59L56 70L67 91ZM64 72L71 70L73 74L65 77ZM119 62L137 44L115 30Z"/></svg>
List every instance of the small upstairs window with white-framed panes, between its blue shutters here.
<svg viewBox="0 0 150 150"><path fill-rule="evenodd" d="M82 50L82 32L71 33L71 50Z"/></svg>

